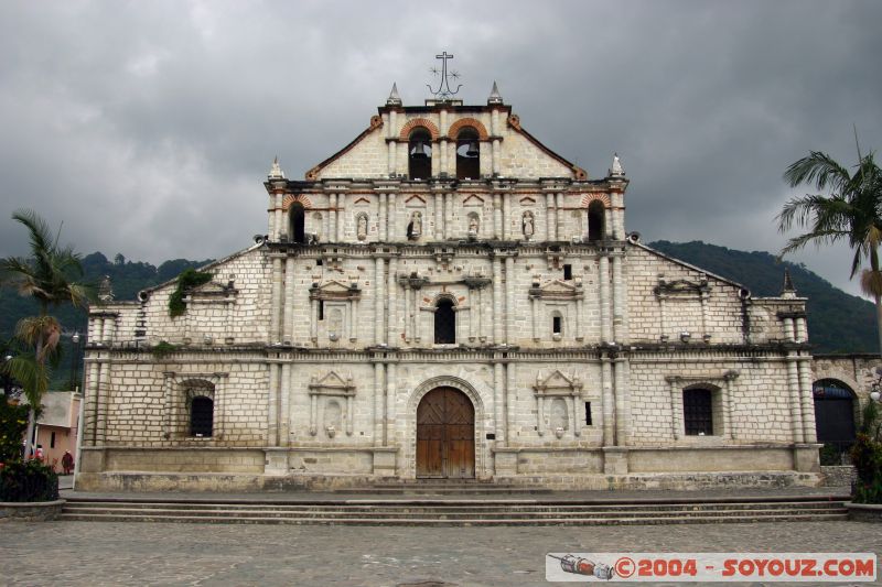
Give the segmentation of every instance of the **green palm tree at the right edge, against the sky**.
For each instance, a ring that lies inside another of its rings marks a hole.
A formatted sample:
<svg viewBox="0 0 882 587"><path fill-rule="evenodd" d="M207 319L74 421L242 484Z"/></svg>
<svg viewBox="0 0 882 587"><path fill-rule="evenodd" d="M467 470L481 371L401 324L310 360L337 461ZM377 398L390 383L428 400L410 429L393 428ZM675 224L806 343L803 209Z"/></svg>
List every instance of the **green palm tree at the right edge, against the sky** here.
<svg viewBox="0 0 882 587"><path fill-rule="evenodd" d="M808 184L829 195L807 194L790 198L777 216L778 230L785 232L796 224L808 232L794 237L781 256L815 242L845 241L854 252L851 260L853 279L864 260L870 268L861 272L861 290L875 301L879 348L882 351L882 272L879 246L882 243L882 172L873 153L861 155L854 172L837 163L830 155L811 151L787 167L784 178L790 187Z"/></svg>

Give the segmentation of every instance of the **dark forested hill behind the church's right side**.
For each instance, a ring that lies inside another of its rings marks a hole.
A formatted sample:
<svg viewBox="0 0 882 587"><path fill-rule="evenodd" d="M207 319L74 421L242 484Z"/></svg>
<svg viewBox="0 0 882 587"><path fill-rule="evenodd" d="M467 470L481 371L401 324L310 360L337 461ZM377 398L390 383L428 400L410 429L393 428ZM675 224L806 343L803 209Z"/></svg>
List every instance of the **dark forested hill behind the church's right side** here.
<svg viewBox="0 0 882 587"><path fill-rule="evenodd" d="M701 241L659 240L648 247L736 281L754 296L781 294L786 267L797 295L808 297L808 337L815 352L879 351L873 304L833 287L802 264L778 262L763 251L734 251Z"/></svg>

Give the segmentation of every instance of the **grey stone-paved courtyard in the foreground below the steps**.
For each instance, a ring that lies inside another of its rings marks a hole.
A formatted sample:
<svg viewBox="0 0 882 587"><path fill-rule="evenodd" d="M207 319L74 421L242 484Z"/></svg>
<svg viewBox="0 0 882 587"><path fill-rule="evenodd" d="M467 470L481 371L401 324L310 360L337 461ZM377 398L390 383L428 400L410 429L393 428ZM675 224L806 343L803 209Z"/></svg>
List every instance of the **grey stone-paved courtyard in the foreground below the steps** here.
<svg viewBox="0 0 882 587"><path fill-rule="evenodd" d="M882 529L861 522L450 529L8 522L0 525L0 583L549 585L545 555L560 551L882 553Z"/></svg>

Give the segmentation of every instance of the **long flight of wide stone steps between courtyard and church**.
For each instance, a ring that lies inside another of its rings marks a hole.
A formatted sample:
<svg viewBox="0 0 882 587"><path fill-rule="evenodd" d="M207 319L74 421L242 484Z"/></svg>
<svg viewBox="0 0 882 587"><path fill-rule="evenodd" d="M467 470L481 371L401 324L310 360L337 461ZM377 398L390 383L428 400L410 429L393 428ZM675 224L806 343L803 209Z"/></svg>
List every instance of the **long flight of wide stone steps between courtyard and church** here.
<svg viewBox="0 0 882 587"><path fill-rule="evenodd" d="M376 525L607 525L846 520L843 501L789 500L730 503L451 503L277 502L222 503L74 498L62 512L73 521Z"/></svg>

